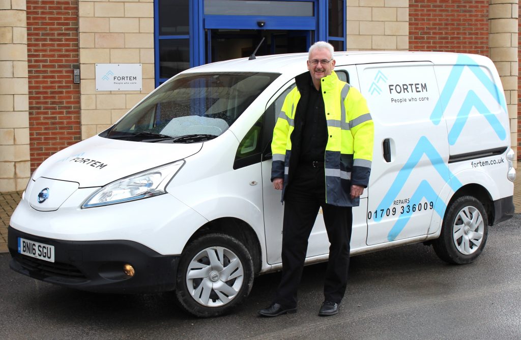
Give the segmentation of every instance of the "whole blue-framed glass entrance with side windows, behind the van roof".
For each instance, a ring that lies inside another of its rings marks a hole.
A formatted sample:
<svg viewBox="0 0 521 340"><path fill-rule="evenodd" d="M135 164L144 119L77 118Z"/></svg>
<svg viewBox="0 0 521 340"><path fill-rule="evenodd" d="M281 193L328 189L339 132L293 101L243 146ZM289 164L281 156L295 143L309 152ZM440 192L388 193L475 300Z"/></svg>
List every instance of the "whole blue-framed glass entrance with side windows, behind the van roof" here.
<svg viewBox="0 0 521 340"><path fill-rule="evenodd" d="M252 54L345 51L345 0L154 0L156 86L190 67Z"/></svg>

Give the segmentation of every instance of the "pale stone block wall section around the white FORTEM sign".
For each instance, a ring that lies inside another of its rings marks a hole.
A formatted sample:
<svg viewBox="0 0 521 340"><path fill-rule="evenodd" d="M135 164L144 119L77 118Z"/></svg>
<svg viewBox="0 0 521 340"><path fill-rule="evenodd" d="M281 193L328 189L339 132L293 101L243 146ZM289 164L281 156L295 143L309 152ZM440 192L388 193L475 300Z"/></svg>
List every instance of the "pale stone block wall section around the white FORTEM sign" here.
<svg viewBox="0 0 521 340"><path fill-rule="evenodd" d="M106 130L154 83L154 3L79 1L81 136ZM141 64L142 91L96 91L95 64Z"/></svg>

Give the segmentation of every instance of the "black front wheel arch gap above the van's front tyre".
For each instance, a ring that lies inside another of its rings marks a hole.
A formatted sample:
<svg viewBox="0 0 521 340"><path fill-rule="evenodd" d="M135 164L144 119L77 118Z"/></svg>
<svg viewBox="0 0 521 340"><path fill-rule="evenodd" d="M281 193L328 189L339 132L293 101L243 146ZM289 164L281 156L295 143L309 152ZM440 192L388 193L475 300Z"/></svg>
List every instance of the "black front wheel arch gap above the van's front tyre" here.
<svg viewBox="0 0 521 340"><path fill-rule="evenodd" d="M234 217L221 217L209 221L197 229L189 238L184 249L197 238L210 233L222 233L237 238L246 249L250 250L253 260L254 273L257 274L262 268L262 248L261 242L252 226L245 221Z"/></svg>

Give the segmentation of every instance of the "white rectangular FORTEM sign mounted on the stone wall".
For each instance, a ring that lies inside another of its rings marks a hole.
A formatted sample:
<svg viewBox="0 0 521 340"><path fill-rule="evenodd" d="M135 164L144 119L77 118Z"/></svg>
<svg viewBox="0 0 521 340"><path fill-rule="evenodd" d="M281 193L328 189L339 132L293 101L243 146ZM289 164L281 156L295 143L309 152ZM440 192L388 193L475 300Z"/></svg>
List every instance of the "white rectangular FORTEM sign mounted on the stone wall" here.
<svg viewBox="0 0 521 340"><path fill-rule="evenodd" d="M141 91L141 64L96 64L96 91Z"/></svg>

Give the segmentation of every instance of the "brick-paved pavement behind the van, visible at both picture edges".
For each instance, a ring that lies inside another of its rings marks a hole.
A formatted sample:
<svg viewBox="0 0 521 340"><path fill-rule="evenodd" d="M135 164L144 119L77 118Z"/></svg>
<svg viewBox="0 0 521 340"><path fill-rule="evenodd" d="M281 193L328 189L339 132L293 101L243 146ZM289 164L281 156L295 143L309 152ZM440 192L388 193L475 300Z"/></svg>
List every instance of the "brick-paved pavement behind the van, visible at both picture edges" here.
<svg viewBox="0 0 521 340"><path fill-rule="evenodd" d="M517 163L517 177L514 182L515 212L521 212L521 161ZM13 211L22 198L21 192L0 193L0 253L7 252L7 226Z"/></svg>

